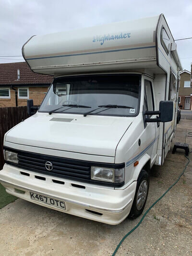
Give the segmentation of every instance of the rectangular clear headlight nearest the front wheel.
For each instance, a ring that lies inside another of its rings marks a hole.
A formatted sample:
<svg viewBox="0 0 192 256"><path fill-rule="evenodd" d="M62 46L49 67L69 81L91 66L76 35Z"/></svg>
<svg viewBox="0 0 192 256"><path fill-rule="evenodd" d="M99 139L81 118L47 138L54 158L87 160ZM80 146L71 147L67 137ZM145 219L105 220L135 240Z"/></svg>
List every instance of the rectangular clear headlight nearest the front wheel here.
<svg viewBox="0 0 192 256"><path fill-rule="evenodd" d="M121 183L124 182L125 168L113 169L102 167L91 167L91 179L97 181Z"/></svg>

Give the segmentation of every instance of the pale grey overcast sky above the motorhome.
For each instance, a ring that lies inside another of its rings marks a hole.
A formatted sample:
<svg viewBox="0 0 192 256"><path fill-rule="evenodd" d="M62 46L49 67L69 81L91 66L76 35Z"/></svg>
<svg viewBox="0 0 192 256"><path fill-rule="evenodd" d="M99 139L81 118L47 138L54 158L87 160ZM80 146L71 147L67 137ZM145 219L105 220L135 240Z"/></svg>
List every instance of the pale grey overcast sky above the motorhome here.
<svg viewBox="0 0 192 256"><path fill-rule="evenodd" d="M192 0L0 0L0 56L22 55L21 48L32 35L160 13L165 14L174 39L192 37ZM177 41L177 49L183 68L190 70L192 39ZM6 58L0 57L0 63L16 61Z"/></svg>

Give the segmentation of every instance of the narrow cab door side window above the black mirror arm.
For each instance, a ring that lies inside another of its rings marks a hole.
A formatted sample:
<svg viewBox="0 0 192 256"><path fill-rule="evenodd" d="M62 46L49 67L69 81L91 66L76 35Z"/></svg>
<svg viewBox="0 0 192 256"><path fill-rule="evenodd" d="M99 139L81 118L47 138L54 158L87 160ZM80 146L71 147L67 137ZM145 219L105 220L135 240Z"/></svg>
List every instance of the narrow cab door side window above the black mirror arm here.
<svg viewBox="0 0 192 256"><path fill-rule="evenodd" d="M148 80L144 80L144 104L146 110L154 111L153 88L151 82Z"/></svg>

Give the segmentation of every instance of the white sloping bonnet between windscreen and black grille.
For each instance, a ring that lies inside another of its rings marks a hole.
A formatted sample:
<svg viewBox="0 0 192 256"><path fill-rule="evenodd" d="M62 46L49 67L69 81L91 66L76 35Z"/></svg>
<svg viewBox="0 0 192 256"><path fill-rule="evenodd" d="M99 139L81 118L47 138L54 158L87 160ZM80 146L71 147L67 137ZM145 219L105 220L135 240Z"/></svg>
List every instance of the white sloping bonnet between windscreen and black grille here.
<svg viewBox="0 0 192 256"><path fill-rule="evenodd" d="M57 118L57 121L52 121ZM6 142L115 157L122 135L134 118L39 113L6 134ZM63 122L71 119L71 122ZM30 127L30 129L29 129ZM33 134L33 135L32 135Z"/></svg>

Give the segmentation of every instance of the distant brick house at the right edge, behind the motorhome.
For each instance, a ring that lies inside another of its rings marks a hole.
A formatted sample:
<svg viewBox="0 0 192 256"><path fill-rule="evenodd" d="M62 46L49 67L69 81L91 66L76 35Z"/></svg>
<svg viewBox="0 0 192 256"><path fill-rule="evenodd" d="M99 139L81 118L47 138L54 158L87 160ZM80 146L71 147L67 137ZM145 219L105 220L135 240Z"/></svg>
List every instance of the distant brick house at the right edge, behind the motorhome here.
<svg viewBox="0 0 192 256"><path fill-rule="evenodd" d="M187 70L180 72L179 103L184 110L192 110L191 73Z"/></svg>

